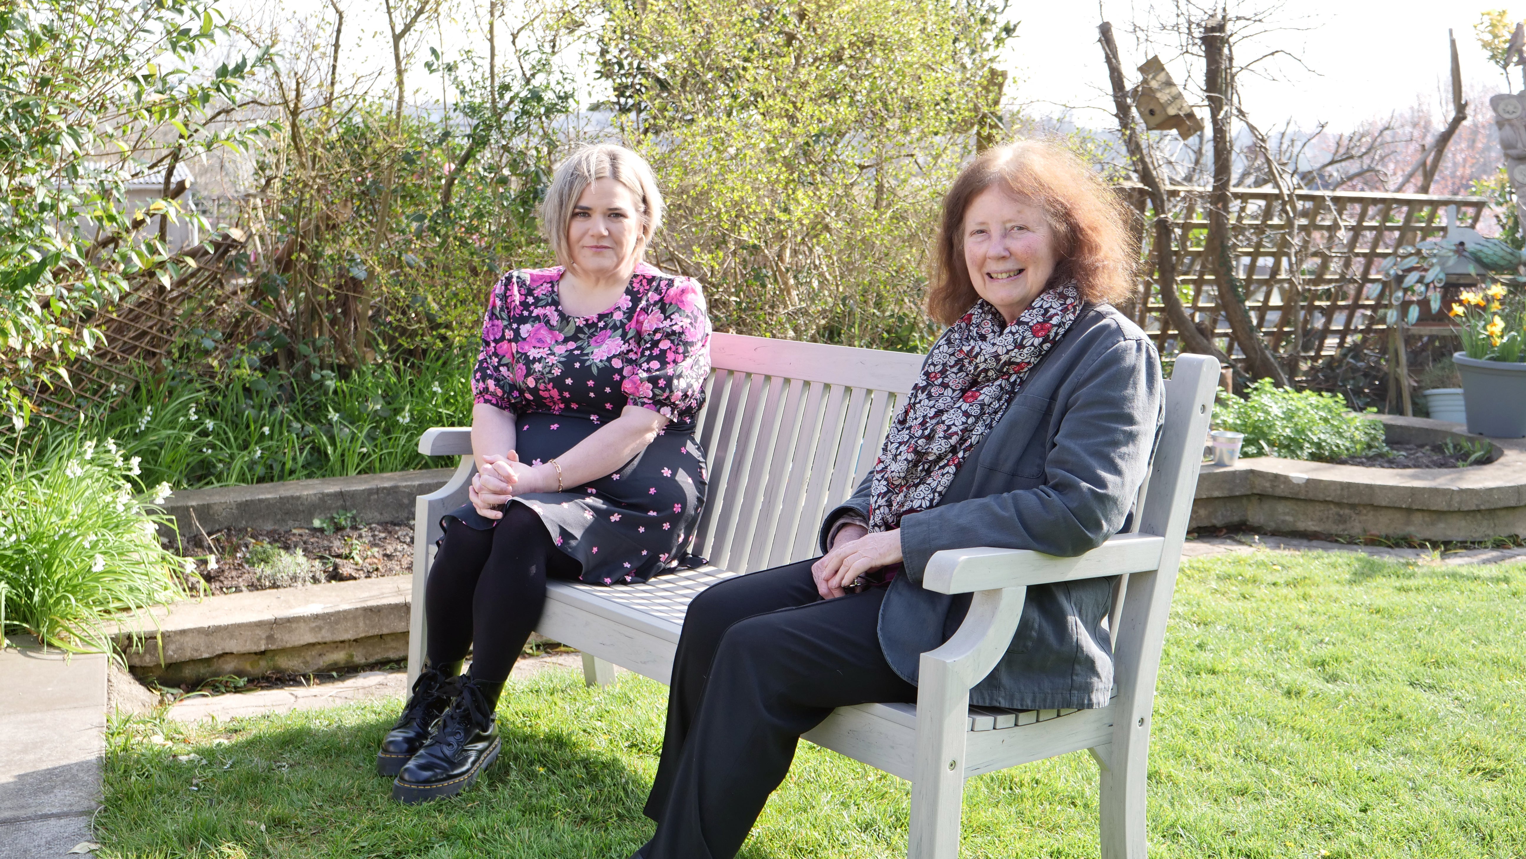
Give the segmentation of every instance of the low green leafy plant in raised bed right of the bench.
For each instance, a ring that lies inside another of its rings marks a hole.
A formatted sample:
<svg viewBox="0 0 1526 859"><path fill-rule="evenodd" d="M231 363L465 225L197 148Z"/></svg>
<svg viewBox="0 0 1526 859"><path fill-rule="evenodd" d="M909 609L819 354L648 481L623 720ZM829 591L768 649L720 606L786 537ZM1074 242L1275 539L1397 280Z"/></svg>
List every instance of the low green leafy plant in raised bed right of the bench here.
<svg viewBox="0 0 1526 859"><path fill-rule="evenodd" d="M1262 378L1247 397L1221 394L1215 429L1245 433L1242 456L1331 462L1386 452L1383 424L1346 409L1334 394L1276 388Z"/></svg>

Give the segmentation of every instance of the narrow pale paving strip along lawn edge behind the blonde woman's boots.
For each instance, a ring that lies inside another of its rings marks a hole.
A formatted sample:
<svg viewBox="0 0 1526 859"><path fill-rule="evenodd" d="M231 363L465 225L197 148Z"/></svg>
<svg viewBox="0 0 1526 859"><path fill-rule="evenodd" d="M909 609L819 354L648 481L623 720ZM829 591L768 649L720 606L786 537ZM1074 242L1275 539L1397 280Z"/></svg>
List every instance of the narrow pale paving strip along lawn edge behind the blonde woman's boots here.
<svg viewBox="0 0 1526 859"><path fill-rule="evenodd" d="M545 653L523 658L514 664L513 677L523 680L546 670L583 670L578 653ZM336 706L372 697L401 699L407 693L407 671L365 671L354 677L317 684L313 687L287 687L182 699L169 706L168 716L175 722L200 722L201 719L240 719L244 716L269 716L298 709Z"/></svg>

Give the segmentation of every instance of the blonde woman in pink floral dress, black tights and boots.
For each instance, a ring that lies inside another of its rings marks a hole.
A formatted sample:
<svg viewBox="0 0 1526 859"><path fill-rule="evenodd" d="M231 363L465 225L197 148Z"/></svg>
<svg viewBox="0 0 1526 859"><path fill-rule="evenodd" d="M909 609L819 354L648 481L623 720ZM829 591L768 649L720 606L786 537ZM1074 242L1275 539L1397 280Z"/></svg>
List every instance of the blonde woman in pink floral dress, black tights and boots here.
<svg viewBox="0 0 1526 859"><path fill-rule="evenodd" d="M684 557L705 502L693 430L710 319L697 282L642 261L661 221L645 160L586 146L542 212L560 265L493 287L472 377L478 476L446 516L424 671L377 754L395 799L458 793L497 757L493 713L546 578L645 581Z"/></svg>

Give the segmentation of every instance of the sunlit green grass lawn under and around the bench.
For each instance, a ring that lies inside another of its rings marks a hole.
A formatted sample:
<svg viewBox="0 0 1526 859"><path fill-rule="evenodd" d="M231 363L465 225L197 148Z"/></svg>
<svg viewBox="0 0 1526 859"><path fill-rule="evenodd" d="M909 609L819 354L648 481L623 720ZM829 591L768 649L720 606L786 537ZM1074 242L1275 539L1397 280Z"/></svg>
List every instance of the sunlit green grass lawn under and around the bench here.
<svg viewBox="0 0 1526 859"><path fill-rule="evenodd" d="M1526 856L1526 566L1256 552L1186 565L1151 755L1155 856ZM395 703L113 726L102 856L624 859L665 688L511 687L455 801L372 772ZM169 745L153 742L162 734ZM195 754L204 761L174 755ZM743 856L903 856L908 786L801 745ZM1085 752L969 783L963 856L1096 856Z"/></svg>

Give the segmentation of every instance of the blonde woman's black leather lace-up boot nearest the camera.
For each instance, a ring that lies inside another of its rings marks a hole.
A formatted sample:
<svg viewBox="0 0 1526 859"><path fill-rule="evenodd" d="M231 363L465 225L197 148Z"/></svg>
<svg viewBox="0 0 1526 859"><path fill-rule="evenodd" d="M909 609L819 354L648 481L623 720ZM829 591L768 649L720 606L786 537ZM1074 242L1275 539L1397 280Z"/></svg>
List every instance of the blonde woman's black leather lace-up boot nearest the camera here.
<svg viewBox="0 0 1526 859"><path fill-rule="evenodd" d="M435 723L429 742L397 774L392 798L414 804L455 796L472 787L502 748L493 714L501 691L501 682L467 679L461 684L461 694Z"/></svg>

